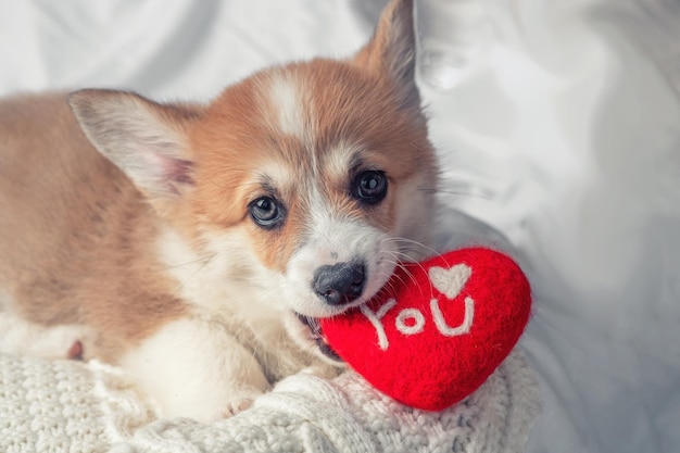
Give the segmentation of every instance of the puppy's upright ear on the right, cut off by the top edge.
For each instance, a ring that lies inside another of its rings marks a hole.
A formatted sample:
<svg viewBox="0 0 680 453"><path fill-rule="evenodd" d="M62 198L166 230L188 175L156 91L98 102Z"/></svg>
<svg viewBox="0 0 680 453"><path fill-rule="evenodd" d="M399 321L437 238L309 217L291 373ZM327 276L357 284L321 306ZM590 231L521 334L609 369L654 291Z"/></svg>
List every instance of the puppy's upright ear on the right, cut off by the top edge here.
<svg viewBox="0 0 680 453"><path fill-rule="evenodd" d="M363 67L387 74L394 83L400 105L419 111L413 0L391 0L388 3L373 38L354 61Z"/></svg>

